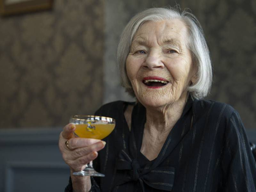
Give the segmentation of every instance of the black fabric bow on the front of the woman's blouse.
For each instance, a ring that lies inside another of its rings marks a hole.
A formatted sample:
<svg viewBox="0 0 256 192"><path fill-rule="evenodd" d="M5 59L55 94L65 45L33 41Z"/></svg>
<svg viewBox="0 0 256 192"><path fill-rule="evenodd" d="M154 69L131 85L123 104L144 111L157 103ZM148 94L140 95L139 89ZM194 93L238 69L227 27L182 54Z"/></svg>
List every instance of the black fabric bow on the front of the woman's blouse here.
<svg viewBox="0 0 256 192"><path fill-rule="evenodd" d="M119 180L117 185L129 181L139 181L143 191L144 183L155 189L172 191L175 175L173 167L145 167L142 169L136 159L132 159L124 150L121 150L116 168L120 171L126 171L126 174Z"/></svg>

